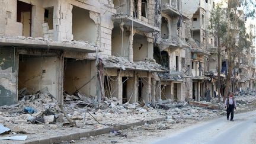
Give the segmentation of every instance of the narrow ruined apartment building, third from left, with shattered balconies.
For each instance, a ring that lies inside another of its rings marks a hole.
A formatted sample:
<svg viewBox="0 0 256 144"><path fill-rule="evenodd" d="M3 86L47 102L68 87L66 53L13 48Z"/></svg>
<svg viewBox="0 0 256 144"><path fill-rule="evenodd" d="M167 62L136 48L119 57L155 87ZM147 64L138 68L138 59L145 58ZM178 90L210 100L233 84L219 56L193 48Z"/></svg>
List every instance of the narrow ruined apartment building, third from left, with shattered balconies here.
<svg viewBox="0 0 256 144"><path fill-rule="evenodd" d="M191 95L191 59L184 23L189 18L181 12L181 4L181 0L161 1L161 35L157 37L154 58L167 69L160 76L162 100L184 101Z"/></svg>

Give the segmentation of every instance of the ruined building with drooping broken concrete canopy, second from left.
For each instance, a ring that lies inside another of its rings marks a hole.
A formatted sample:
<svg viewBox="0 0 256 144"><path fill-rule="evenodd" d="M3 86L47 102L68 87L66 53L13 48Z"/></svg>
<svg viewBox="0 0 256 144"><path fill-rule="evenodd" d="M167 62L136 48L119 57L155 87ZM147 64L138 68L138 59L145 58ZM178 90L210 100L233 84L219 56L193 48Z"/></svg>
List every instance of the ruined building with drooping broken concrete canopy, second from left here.
<svg viewBox="0 0 256 144"><path fill-rule="evenodd" d="M159 33L159 2L153 0L114 0L111 56L103 58L105 97L120 103L160 100L164 71L153 60L154 34Z"/></svg>

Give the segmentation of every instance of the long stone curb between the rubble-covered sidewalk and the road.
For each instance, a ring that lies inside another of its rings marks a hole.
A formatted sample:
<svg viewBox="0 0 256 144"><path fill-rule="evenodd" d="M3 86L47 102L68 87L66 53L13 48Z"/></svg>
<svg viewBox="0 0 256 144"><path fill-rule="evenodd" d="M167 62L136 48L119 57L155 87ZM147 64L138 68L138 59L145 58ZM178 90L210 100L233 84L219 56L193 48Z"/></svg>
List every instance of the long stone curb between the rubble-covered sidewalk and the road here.
<svg viewBox="0 0 256 144"><path fill-rule="evenodd" d="M31 141L25 142L25 144L51 144L51 143L62 143L63 141L70 141L70 140L79 140L82 137L103 135L105 133L110 133L114 130L129 129L132 126L141 126L145 123L152 124L152 123L156 123L158 121L164 121L166 119L167 119L167 117L161 117L158 119L138 121L135 123L129 123L129 124L124 124L124 125L116 124L111 127L106 127L104 129L98 129L98 130L91 130L89 132L70 133L69 135L53 136L53 137L49 137L49 138L41 138L41 139L31 140Z"/></svg>

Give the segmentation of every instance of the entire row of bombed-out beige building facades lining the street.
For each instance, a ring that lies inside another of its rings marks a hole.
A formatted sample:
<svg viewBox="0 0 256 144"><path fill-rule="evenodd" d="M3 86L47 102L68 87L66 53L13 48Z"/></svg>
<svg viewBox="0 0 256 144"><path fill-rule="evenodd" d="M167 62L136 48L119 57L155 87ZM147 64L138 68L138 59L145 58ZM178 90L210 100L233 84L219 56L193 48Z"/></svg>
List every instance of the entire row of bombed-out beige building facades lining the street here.
<svg viewBox="0 0 256 144"><path fill-rule="evenodd" d="M60 103L63 91L149 103L200 101L207 89L216 90L209 75L216 73L216 43L206 32L213 1L0 4L0 105L45 87Z"/></svg>

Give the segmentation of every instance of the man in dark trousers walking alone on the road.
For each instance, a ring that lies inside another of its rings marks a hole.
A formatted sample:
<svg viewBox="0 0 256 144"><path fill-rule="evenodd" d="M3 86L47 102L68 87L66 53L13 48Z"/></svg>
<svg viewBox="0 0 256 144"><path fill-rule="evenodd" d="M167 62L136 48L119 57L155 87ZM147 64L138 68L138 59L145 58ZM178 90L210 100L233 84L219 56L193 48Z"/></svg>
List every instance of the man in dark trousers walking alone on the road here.
<svg viewBox="0 0 256 144"><path fill-rule="evenodd" d="M231 121L233 121L233 109L236 109L235 98L233 92L229 92L228 97L225 100L225 108L227 108L227 120L229 120L229 114L231 114Z"/></svg>

